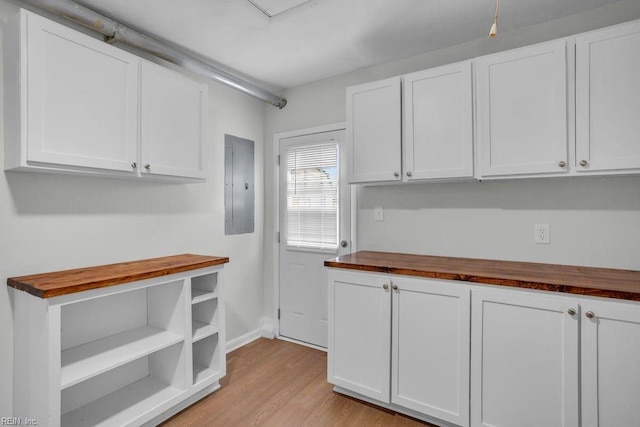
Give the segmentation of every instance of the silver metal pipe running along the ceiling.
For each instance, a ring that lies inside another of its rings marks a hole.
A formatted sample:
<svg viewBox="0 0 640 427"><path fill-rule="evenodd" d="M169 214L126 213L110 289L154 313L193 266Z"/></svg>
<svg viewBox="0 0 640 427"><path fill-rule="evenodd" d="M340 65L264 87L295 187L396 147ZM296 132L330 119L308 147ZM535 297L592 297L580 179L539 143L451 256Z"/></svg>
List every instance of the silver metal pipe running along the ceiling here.
<svg viewBox="0 0 640 427"><path fill-rule="evenodd" d="M108 43L121 42L150 53L165 61L189 69L196 74L230 86L275 107L284 108L287 100L261 87L236 77L220 68L196 59L173 46L155 40L133 28L127 27L99 12L71 0L20 0L55 15L70 19L106 37Z"/></svg>

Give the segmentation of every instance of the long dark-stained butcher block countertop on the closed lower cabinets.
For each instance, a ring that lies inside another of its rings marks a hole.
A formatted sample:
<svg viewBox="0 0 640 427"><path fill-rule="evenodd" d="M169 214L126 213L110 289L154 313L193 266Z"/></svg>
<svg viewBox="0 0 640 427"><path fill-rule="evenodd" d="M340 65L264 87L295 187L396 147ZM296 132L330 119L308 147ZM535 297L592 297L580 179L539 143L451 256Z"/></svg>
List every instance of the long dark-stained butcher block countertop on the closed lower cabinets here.
<svg viewBox="0 0 640 427"><path fill-rule="evenodd" d="M327 267L640 301L640 271L360 251Z"/></svg>

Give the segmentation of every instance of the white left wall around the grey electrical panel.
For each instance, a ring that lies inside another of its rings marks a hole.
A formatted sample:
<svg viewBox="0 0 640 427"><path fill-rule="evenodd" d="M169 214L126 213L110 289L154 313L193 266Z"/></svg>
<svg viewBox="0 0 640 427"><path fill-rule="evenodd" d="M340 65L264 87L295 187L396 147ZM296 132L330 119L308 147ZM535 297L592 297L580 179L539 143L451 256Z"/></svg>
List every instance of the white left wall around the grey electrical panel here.
<svg viewBox="0 0 640 427"><path fill-rule="evenodd" d="M14 5L0 1L0 22L4 24L16 11ZM227 339L254 331L263 315L265 108L260 101L210 84L208 180L204 184L0 173L0 282L29 273L181 253L228 256L231 262L224 268ZM256 143L252 234L224 235L225 133ZM9 292L2 285L0 417L11 415L12 318Z"/></svg>

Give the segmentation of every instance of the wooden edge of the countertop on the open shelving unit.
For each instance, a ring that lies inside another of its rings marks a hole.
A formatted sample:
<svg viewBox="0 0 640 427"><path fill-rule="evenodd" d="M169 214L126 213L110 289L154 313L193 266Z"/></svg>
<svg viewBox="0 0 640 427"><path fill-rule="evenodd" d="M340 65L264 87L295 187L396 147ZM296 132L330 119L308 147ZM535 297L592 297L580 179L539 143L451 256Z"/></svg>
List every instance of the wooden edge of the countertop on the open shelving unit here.
<svg viewBox="0 0 640 427"><path fill-rule="evenodd" d="M148 261L153 261L153 260L154 259L150 259ZM133 262L136 262L136 261L133 261ZM37 286L30 285L28 283L24 283L20 281L22 277L28 277L28 276L15 277L15 278L10 277L7 279L7 286L18 289L20 291L27 292L39 298L52 298L52 297L57 297L61 295L68 295L68 294L73 294L77 292L105 288L109 286L124 285L126 283L137 282L139 280L168 276L171 274L182 273L190 270L198 270L200 268L213 267L216 265L226 264L228 262L229 262L228 257L212 257L212 259L206 260L206 261L193 262L189 264L171 266L166 268L159 268L157 270L149 270L149 271L144 271L136 274L107 277L102 280L94 280L87 283L78 283L76 285L70 285L70 286L52 288L52 289L42 289L41 287L37 287ZM74 269L74 270L68 270L68 271L77 272L82 270L91 270L92 268L107 268L110 266L119 266L123 264L128 264L128 263L110 264L110 265L96 266L96 267L86 267L86 268L80 268L80 269ZM64 273L64 271L55 272L55 273L56 274ZM43 273L42 276L46 274L48 273Z"/></svg>

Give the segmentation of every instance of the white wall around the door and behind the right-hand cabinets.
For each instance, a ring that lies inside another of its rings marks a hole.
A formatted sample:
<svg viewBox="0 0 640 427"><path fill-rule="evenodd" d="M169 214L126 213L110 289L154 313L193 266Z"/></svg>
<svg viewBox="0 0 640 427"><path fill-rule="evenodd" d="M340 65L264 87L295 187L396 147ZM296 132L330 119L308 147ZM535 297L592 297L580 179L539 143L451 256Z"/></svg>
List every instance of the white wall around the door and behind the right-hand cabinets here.
<svg viewBox="0 0 640 427"><path fill-rule="evenodd" d="M275 304L274 133L344 121L347 86L638 18L640 2L623 0L287 90L285 109L267 109L265 313ZM640 177L360 187L358 193L359 249L640 270ZM385 208L384 222L373 221L374 206ZM549 246L533 243L540 223L551 226Z"/></svg>

